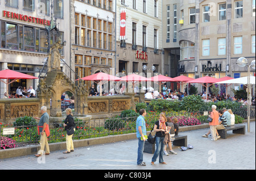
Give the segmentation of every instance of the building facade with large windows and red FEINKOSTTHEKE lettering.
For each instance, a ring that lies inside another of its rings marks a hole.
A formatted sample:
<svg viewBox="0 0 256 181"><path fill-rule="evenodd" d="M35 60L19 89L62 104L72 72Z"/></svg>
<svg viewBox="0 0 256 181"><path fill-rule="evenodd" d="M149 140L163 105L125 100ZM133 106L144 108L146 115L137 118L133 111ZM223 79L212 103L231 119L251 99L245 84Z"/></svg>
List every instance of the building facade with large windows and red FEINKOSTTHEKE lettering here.
<svg viewBox="0 0 256 181"><path fill-rule="evenodd" d="M69 1L63 0L5 0L0 2L0 70L11 69L39 76L48 55L48 43L57 37L69 42ZM47 30L51 17L59 29L59 36ZM48 41L49 40L49 41ZM61 58L69 60L69 43L61 50ZM18 86L37 89L38 79L19 79L9 86L10 93ZM1 82L1 98L6 92L6 84Z"/></svg>

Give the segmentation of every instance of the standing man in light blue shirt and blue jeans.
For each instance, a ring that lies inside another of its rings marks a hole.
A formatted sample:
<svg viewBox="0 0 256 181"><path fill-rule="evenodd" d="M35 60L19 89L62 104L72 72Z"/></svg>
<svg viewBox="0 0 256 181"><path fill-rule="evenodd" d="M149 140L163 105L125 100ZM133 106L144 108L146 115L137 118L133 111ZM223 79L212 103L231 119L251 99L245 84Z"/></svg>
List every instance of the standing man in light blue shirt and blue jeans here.
<svg viewBox="0 0 256 181"><path fill-rule="evenodd" d="M138 138L138 157L137 165L146 166L146 163L143 162L143 151L146 138L144 135L147 134L146 131L146 122L145 122L146 110L139 110L139 117L136 121L136 136Z"/></svg>

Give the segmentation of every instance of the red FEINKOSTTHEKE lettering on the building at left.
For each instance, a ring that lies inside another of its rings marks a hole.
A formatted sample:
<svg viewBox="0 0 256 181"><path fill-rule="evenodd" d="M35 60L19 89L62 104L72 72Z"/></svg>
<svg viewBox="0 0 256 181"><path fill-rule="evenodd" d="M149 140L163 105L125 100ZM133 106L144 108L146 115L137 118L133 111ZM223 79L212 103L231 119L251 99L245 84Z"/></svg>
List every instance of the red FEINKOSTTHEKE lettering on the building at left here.
<svg viewBox="0 0 256 181"><path fill-rule="evenodd" d="M51 26L51 21L3 10L3 17Z"/></svg>

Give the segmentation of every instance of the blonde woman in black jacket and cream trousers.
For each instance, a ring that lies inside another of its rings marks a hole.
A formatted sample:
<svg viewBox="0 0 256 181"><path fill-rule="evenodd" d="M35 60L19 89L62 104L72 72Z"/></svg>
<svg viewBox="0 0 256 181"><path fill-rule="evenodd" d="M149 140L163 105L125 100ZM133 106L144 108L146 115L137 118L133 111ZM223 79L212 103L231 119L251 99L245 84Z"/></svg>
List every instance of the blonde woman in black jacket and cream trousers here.
<svg viewBox="0 0 256 181"><path fill-rule="evenodd" d="M75 131L76 124L73 119L72 110L71 110L71 108L67 108L65 111L66 111L67 117L64 120L63 126L64 126L65 130L74 129L74 131ZM70 151L74 151L72 136L73 136L73 134L71 134L71 135L68 135L68 133L66 134L67 150L64 151L63 153L70 153Z"/></svg>

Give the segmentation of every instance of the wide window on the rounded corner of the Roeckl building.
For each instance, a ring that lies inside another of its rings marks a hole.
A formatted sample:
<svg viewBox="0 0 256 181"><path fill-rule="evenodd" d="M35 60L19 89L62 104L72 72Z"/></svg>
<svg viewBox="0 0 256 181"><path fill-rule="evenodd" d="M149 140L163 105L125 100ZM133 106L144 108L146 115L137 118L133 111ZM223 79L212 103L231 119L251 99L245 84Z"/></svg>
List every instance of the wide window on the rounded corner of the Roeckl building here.
<svg viewBox="0 0 256 181"><path fill-rule="evenodd" d="M181 60L195 59L195 44L190 41L180 43Z"/></svg>

